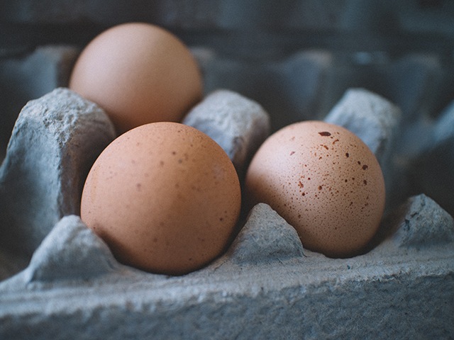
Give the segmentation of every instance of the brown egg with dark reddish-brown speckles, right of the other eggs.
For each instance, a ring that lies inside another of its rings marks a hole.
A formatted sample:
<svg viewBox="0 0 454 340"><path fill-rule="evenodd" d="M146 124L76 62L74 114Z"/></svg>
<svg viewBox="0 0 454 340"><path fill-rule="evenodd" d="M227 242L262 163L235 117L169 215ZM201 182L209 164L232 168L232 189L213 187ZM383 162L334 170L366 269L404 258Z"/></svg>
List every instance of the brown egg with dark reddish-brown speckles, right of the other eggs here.
<svg viewBox="0 0 454 340"><path fill-rule="evenodd" d="M384 210L384 179L356 135L320 121L294 123L268 137L245 179L252 203L269 204L306 249L352 256L372 239Z"/></svg>

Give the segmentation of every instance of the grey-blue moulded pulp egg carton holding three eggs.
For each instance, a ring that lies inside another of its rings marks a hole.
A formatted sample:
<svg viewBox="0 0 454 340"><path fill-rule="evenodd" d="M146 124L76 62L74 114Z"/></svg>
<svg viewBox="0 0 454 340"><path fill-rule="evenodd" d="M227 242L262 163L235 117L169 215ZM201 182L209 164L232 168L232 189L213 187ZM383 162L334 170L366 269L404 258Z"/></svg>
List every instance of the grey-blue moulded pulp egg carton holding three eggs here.
<svg viewBox="0 0 454 340"><path fill-rule="evenodd" d="M433 182L452 186L453 157L440 150L454 143L454 105L428 115L436 103L420 94L435 91L433 78L421 76L426 81L404 96L397 90L411 77L385 81L394 84L396 105L377 87L350 86L375 83L356 81L364 68L331 52L303 50L251 67L192 51L206 94L183 123L211 135L240 177L270 128L292 120L323 119L362 138L382 166L389 198L375 239L359 256L330 259L304 249L293 227L260 203L227 251L199 271L162 276L123 266L77 216L84 176L114 130L101 108L61 87L77 50L42 47L7 60L1 73L2 80L33 77L24 65L36 54L53 66L42 77L52 80L33 88L42 96L18 116L0 168L1 339L452 338L454 222L446 202L453 194ZM389 69L441 69L421 55L386 69L375 62L366 69L382 80L395 78ZM253 81L263 86L253 91ZM275 92L278 84L287 87ZM282 106L271 105L280 94ZM427 190L413 193L413 181Z"/></svg>

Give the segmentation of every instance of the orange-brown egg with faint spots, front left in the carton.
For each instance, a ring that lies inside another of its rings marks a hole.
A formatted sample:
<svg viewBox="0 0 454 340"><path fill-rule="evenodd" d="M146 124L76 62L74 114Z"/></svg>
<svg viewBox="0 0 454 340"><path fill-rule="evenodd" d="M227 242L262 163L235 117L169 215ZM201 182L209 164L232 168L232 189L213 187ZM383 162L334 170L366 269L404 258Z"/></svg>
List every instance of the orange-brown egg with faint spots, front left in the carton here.
<svg viewBox="0 0 454 340"><path fill-rule="evenodd" d="M96 159L81 217L118 261L179 275L226 249L240 203L236 170L214 140L187 125L150 123Z"/></svg>

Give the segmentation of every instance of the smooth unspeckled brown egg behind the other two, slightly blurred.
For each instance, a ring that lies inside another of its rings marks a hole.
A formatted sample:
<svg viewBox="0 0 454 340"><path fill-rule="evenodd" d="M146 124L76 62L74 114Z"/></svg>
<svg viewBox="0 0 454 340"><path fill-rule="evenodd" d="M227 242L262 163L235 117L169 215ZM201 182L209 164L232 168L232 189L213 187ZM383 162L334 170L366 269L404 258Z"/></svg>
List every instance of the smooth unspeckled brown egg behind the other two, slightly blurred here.
<svg viewBox="0 0 454 340"><path fill-rule="evenodd" d="M188 48L148 23L124 23L94 38L74 65L69 86L104 108L118 133L157 121L179 122L202 94Z"/></svg>

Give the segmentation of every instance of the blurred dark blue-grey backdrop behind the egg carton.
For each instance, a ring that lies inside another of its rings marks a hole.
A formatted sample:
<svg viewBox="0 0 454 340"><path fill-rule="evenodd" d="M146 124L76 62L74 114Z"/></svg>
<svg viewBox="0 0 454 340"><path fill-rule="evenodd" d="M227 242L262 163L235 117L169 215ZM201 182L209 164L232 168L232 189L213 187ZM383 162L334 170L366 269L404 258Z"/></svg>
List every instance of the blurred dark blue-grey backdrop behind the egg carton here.
<svg viewBox="0 0 454 340"><path fill-rule="evenodd" d="M16 0L1 1L2 52L84 45L118 23L164 26L189 45L226 55L276 58L309 47L436 52L453 60L450 0Z"/></svg>

